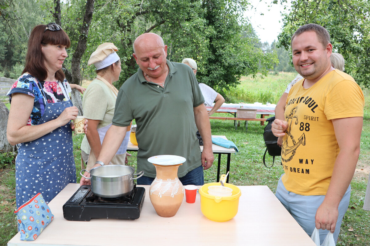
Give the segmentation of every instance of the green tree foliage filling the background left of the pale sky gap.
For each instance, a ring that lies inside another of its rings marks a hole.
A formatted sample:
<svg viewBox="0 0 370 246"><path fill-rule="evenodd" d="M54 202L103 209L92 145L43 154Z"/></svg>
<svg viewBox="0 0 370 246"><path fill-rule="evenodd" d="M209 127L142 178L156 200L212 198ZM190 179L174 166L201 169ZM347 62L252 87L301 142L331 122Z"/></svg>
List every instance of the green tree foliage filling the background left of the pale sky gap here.
<svg viewBox="0 0 370 246"><path fill-rule="evenodd" d="M247 0L95 0L86 34L81 33L81 27L86 24L83 21L86 0L20 0L20 3L38 5L19 11L27 14L29 9L35 9L30 15L39 17L28 21L28 17L22 15L21 20L31 26L24 28L28 35L37 24L60 21L71 39L69 56L64 63L67 71L72 70L72 57L78 51L81 35L86 36L87 42L85 52L78 56L79 69L81 76L89 79L95 76L94 66L87 66L90 54L99 44L113 42L119 49L122 63L120 81L116 86L137 72L132 43L145 32L155 32L164 39L169 60L181 62L186 57L196 60L199 82L221 93L222 89L236 86L242 75L259 72L266 75L277 63L275 52L256 45L259 39L243 17L249 7ZM59 7L60 15L56 15ZM21 33L19 25L14 23L14 27L19 29L16 33ZM0 34L0 40L4 38L6 36ZM16 62L6 66L14 67L15 63L24 62L26 39L27 34L19 41L19 44L24 44L20 52L17 51L21 55L11 56ZM11 45L17 43L14 39L9 40ZM1 48L1 45L0 42L0 62L3 62L1 56L6 54L3 51L14 49L10 46Z"/></svg>

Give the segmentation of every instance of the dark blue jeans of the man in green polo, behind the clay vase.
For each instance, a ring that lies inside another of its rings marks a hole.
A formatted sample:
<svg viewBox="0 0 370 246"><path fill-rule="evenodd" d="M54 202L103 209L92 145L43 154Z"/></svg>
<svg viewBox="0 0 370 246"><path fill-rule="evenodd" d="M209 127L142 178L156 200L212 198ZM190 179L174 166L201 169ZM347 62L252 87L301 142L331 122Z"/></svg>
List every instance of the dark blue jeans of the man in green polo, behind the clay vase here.
<svg viewBox="0 0 370 246"><path fill-rule="evenodd" d="M137 179L138 185L151 185L155 178L141 176ZM204 184L203 167L202 165L186 173L184 177L179 178L182 185L194 184L202 186Z"/></svg>

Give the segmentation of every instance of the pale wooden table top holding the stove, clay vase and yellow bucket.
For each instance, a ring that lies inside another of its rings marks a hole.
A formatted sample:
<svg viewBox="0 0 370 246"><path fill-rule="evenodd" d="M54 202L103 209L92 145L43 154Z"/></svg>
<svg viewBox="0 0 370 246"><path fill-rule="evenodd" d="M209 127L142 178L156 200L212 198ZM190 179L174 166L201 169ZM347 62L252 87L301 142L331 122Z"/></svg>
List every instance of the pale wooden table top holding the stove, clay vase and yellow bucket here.
<svg viewBox="0 0 370 246"><path fill-rule="evenodd" d="M200 195L196 202L184 201L171 218L157 215L150 199L149 186L140 218L91 219L67 221L63 204L77 191L79 184L68 184L50 203L54 220L35 241L21 241L15 235L8 246L15 245L252 245L315 246L310 237L267 186L238 186L242 192L238 214L227 222L214 222L203 216Z"/></svg>

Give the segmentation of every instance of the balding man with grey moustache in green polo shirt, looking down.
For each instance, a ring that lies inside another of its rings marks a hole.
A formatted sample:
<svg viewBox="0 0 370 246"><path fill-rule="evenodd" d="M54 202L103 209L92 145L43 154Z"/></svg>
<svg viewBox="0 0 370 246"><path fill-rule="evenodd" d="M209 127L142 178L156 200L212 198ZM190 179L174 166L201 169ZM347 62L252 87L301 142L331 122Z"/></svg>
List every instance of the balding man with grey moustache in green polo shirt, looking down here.
<svg viewBox="0 0 370 246"><path fill-rule="evenodd" d="M105 135L95 166L110 162L127 126L135 119L137 171L144 170L138 184L149 185L156 176L155 167L147 160L149 157L178 155L186 158L179 166L180 181L184 185L202 185L203 169L213 163L211 125L192 69L166 60L167 45L154 33L135 39L133 56L139 65L138 72L120 88L112 126ZM203 139L202 153L196 127ZM82 178L81 184L86 183L88 180Z"/></svg>

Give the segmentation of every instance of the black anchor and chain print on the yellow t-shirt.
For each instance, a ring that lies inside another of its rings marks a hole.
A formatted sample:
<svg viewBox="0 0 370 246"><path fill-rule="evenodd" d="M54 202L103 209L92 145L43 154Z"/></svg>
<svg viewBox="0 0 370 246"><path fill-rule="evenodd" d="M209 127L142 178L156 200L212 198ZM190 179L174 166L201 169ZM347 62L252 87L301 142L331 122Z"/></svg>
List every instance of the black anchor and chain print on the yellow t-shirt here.
<svg viewBox="0 0 370 246"><path fill-rule="evenodd" d="M296 153L296 149L299 147L299 145L301 144L306 145L305 133L302 133L302 135L297 139L297 141L294 138L294 136L290 134L290 129L292 127L293 119L295 119L294 124L298 125L298 116L295 115L296 112L297 112L297 107L294 107L292 108L292 110L290 110L289 115L286 116L288 127L285 133L287 136L286 136L285 141L283 142L282 158L281 158L284 162L289 162L290 160L292 160L293 156ZM283 156L286 157L287 159L285 159Z"/></svg>

